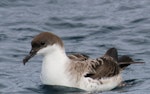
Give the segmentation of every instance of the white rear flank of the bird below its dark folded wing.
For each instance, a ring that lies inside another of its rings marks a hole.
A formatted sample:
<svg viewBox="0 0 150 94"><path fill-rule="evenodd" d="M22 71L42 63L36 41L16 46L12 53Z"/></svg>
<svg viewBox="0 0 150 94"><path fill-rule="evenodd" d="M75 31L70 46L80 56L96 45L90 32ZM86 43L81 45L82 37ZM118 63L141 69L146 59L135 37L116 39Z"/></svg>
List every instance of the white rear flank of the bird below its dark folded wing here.
<svg viewBox="0 0 150 94"><path fill-rule="evenodd" d="M117 87L122 82L122 77L118 76L93 80L91 78L83 78L80 81L80 88L86 91L108 91Z"/></svg>

